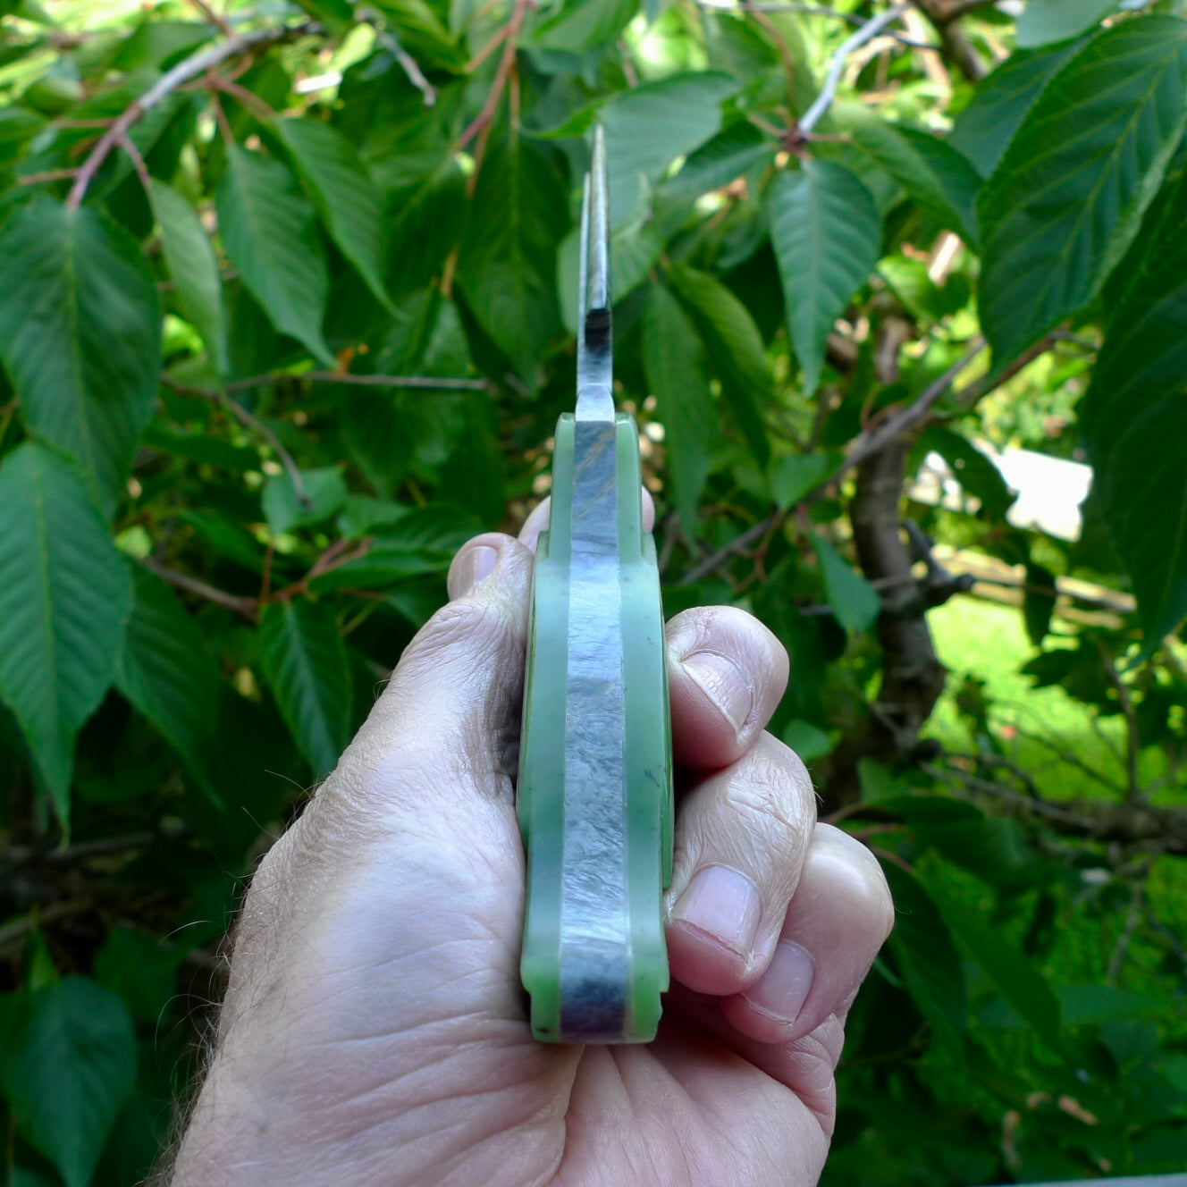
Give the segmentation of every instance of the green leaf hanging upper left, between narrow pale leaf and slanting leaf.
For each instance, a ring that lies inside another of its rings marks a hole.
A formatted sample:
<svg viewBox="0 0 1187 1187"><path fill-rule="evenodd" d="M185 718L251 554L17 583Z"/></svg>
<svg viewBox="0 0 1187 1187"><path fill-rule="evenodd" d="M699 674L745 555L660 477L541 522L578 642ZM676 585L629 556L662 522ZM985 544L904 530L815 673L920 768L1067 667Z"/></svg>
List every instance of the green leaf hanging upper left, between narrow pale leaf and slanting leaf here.
<svg viewBox="0 0 1187 1187"><path fill-rule="evenodd" d="M336 366L322 337L330 291L325 249L292 173L262 153L228 145L215 209L227 256L272 324Z"/></svg>

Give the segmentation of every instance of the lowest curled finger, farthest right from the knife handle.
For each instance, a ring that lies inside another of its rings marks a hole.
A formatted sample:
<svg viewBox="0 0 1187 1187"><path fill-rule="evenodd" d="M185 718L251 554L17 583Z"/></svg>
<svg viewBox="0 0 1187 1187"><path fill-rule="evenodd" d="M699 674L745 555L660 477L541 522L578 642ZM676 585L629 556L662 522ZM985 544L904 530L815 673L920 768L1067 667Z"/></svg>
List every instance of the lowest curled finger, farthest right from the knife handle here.
<svg viewBox="0 0 1187 1187"><path fill-rule="evenodd" d="M893 923L877 858L839 829L817 825L770 964L722 1002L722 1014L767 1043L794 1042L843 1017Z"/></svg>

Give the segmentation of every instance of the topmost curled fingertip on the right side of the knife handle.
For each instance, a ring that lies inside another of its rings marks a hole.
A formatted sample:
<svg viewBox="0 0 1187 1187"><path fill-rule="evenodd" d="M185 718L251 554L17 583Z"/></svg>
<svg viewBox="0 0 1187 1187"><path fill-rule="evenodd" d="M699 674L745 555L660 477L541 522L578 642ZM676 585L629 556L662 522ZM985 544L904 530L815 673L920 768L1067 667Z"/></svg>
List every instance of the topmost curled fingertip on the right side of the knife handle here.
<svg viewBox="0 0 1187 1187"><path fill-rule="evenodd" d="M694 770L737 761L787 688L787 652L753 615L713 605L667 624L672 753Z"/></svg>

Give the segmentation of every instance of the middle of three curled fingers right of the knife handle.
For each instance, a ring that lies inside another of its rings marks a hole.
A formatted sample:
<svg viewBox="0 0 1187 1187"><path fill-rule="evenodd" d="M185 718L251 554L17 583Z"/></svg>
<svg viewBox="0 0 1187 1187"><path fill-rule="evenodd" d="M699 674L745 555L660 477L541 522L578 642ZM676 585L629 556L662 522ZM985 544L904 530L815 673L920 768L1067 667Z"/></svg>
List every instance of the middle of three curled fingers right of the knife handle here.
<svg viewBox="0 0 1187 1187"><path fill-rule="evenodd" d="M775 954L814 821L804 763L769 734L685 796L666 897L673 978L718 996L758 980Z"/></svg>

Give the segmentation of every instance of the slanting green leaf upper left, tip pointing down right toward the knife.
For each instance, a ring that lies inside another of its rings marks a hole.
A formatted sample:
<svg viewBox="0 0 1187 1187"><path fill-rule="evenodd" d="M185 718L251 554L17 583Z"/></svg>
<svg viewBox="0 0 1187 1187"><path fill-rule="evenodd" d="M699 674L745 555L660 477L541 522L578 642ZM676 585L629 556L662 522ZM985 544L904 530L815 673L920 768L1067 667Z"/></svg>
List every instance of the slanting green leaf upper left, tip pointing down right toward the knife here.
<svg viewBox="0 0 1187 1187"><path fill-rule="evenodd" d="M273 127L309 188L330 239L355 266L375 299L394 313L383 284L387 260L383 212L354 145L320 120L277 120Z"/></svg>

